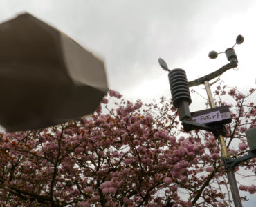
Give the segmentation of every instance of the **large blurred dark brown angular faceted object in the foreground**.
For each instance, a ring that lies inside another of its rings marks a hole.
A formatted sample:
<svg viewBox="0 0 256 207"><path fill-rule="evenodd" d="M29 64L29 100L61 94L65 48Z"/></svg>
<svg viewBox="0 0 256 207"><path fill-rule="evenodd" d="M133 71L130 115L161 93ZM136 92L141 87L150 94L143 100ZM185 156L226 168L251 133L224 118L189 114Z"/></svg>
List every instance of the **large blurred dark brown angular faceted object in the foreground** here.
<svg viewBox="0 0 256 207"><path fill-rule="evenodd" d="M107 92L104 63L25 13L0 24L0 124L46 128L93 113Z"/></svg>

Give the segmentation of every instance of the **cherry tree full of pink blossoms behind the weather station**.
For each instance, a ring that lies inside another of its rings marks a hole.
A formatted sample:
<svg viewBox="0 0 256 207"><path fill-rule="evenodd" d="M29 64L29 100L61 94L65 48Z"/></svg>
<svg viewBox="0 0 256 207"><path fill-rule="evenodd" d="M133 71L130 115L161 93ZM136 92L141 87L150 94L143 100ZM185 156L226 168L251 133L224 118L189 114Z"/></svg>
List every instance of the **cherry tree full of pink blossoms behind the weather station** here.
<svg viewBox="0 0 256 207"><path fill-rule="evenodd" d="M250 99L222 84L217 105L232 97L226 145L246 153L256 125ZM117 100L110 108L109 99ZM238 141L238 142L237 142ZM238 144L233 147L232 144ZM1 206L228 206L219 142L212 133L183 132L172 101L132 103L110 90L90 118L37 131L0 134ZM256 172L255 159L243 166ZM256 186L239 185L256 192Z"/></svg>

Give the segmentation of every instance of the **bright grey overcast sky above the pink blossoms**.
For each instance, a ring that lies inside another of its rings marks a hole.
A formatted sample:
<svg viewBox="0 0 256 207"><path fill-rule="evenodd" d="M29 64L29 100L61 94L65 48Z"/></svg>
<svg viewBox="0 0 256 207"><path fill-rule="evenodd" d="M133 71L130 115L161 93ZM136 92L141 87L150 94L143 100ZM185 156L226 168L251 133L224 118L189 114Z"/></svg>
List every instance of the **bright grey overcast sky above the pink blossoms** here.
<svg viewBox="0 0 256 207"><path fill-rule="evenodd" d="M102 57L109 88L126 99L149 102L170 96L167 72L161 70L158 57L170 69L186 70L189 81L217 70L228 61L223 54L209 59L208 52L232 47L238 34L245 38L235 48L239 70L228 70L221 79L243 92L255 87L253 0L0 0L0 22L22 12L55 26ZM194 110L204 109L201 97L192 101ZM246 204L250 205L254 206Z"/></svg>

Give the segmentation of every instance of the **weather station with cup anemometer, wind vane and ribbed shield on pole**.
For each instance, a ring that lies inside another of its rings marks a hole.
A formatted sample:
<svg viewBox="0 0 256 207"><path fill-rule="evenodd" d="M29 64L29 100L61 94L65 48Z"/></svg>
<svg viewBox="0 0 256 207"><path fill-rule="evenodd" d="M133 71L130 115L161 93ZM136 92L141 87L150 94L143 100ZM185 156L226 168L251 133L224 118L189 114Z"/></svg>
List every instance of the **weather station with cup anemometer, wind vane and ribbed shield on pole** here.
<svg viewBox="0 0 256 207"><path fill-rule="evenodd" d="M163 59L158 59L161 68L169 72L168 77L170 82L173 105L178 109L179 120L181 121L184 130L186 132L191 130L205 130L208 132L212 132L214 136L219 139L222 160L228 175L228 181L230 184L235 207L241 207L242 204L239 190L237 188L234 168L238 164L241 164L244 161L248 161L249 159L253 159L254 157L256 157L256 127L250 128L246 131L246 137L248 139L248 144L250 148L248 154L244 155L243 157L239 157L238 159L230 158L230 155L228 155L227 152L225 141L223 139L223 136L226 135L226 128L224 127L224 124L228 124L232 121L230 111L228 106L215 106L212 92L210 90L209 81L216 77L219 77L219 75L221 75L223 72L226 72L231 68L237 67L238 61L234 47L237 44L241 44L243 42L244 37L238 35L236 43L234 46L232 46L232 48L228 48L225 50L225 52L219 53L211 51L208 55L211 59L215 59L219 54L225 53L230 63L219 68L219 70L216 70L194 81L187 80L185 70L181 68L170 70L167 66L167 63L165 63ZM201 84L204 84L205 86L211 108L196 112L190 112L189 105L190 103L192 103L192 99L190 97L189 87L199 86Z"/></svg>

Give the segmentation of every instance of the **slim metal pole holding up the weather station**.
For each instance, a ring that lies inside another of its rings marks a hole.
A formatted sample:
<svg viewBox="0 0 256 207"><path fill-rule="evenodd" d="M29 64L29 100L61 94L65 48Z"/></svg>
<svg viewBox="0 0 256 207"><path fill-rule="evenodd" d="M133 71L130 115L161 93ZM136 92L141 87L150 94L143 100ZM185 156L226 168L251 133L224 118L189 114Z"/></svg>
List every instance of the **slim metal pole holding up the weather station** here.
<svg viewBox="0 0 256 207"><path fill-rule="evenodd" d="M207 92L208 99L209 99L209 102L210 102L210 107L215 108L216 106L215 106L215 103L214 103L214 99L212 97L212 92L210 90L210 84L209 84L208 81L204 81L204 85L205 85L205 90ZM222 135L219 135L219 137L217 137L217 138L219 139L219 143L221 144L222 157L224 159L227 159L229 157L229 155L228 155L228 151L227 151L227 148L226 148L224 138L223 138ZM235 207L242 207L243 205L241 204L241 199L240 199L240 195L239 195L239 190L237 188L237 180L235 179L234 170L228 170L227 175L228 175L228 181L229 181L229 184L230 184L232 198L233 198Z"/></svg>

